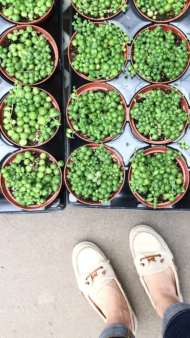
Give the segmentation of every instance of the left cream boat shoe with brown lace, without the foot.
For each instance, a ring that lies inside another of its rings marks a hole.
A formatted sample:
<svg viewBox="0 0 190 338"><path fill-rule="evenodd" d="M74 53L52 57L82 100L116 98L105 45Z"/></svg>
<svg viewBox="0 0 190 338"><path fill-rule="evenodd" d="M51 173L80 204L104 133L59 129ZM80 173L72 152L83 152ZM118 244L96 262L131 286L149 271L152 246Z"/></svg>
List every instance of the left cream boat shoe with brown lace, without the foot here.
<svg viewBox="0 0 190 338"><path fill-rule="evenodd" d="M91 242L81 242L73 250L73 267L77 278L77 283L83 296L92 308L106 322L104 314L94 305L89 297L89 293L98 292L103 286L115 280L121 293L123 294L131 318L131 328L133 334L137 330L137 318L131 308L129 300L121 287L108 259L100 248ZM111 299L110 299L111 300Z"/></svg>

